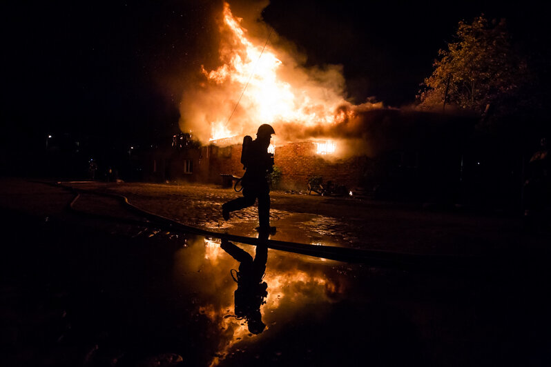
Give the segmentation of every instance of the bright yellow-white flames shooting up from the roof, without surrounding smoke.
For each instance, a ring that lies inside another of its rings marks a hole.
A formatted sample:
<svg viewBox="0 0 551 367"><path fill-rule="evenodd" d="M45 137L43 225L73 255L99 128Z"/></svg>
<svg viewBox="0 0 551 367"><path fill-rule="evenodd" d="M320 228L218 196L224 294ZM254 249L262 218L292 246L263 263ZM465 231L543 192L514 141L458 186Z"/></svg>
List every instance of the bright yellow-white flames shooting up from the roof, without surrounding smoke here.
<svg viewBox="0 0 551 367"><path fill-rule="evenodd" d="M255 45L247 37L248 31L241 21L233 16L229 4L224 3L220 25L222 66L215 70L202 66L202 73L209 81L205 88L217 91L210 98L227 95L217 110L209 111L209 115L202 112L204 123L211 126L211 140L250 134L261 123L316 126L342 118L338 107L347 102L336 90L340 88L336 85L342 83L318 80L329 79L331 75L342 81L342 75L330 70L316 79L304 70L285 65L268 41ZM282 56L287 55L282 52Z"/></svg>

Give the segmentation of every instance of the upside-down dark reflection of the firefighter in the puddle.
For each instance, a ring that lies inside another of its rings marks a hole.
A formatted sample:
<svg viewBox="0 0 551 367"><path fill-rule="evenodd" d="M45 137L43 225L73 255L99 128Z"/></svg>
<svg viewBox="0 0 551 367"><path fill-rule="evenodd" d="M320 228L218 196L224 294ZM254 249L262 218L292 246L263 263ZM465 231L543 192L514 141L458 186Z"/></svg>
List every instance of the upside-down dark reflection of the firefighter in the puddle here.
<svg viewBox="0 0 551 367"><path fill-rule="evenodd" d="M268 259L268 247L266 244L258 244L254 259L247 251L227 240L222 240L220 247L240 263L236 275L233 271L231 274L238 284L238 289L234 292L235 316L247 320L251 333L260 334L266 328L262 322L260 306L266 303L264 298L268 295L268 284L262 281Z"/></svg>

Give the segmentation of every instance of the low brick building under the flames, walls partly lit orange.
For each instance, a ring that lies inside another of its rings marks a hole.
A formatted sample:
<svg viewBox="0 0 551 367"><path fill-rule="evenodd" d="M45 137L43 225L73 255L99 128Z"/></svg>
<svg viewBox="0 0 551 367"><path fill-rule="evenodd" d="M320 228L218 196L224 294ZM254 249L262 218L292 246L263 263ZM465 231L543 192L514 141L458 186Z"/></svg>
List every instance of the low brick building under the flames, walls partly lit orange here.
<svg viewBox="0 0 551 367"><path fill-rule="evenodd" d="M474 120L468 117L381 108L356 119L342 123L332 140L279 145L276 137L271 148L280 187L305 190L310 179L321 177L376 197L441 200L456 195L470 173L467 142ZM230 137L201 145L176 135L156 158L157 178L224 184L224 177L241 177L241 142Z"/></svg>

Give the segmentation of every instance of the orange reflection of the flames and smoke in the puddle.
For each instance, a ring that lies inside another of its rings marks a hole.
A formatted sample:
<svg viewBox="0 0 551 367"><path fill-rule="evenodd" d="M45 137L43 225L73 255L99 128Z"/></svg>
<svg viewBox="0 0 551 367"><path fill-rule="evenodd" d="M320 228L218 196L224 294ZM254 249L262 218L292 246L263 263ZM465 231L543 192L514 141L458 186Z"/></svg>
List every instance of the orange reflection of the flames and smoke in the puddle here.
<svg viewBox="0 0 551 367"><path fill-rule="evenodd" d="M261 255L260 249L254 246L230 245L251 260ZM277 333L281 325L305 308L332 303L345 292L345 277L329 263L300 261L296 255L269 250L267 261L264 258L265 262L261 264L265 266L265 272L262 268L263 276L260 274L260 281L267 284L264 288L267 294L257 300L255 306L259 308L260 303L261 321L258 322L265 328L255 331L251 324L253 319L236 315L239 314L236 312L236 298L240 297L237 292L240 276L236 274L238 268L239 272L244 272L244 261L240 263L229 255L234 252L228 246L226 244L226 252L220 240L197 237L189 240L187 248L175 253L177 288L182 295L193 297L195 315L209 320L211 339L217 350L211 366L218 365L236 348L246 348L259 338Z"/></svg>

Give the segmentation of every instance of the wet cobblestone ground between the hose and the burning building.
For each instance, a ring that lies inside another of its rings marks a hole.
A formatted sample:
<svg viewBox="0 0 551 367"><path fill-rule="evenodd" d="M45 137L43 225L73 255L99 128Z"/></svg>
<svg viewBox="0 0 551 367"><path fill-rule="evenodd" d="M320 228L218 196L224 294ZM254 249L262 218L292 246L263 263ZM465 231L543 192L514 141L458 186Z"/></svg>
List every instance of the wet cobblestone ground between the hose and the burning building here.
<svg viewBox="0 0 551 367"><path fill-rule="evenodd" d="M99 182L72 186L122 194L139 208L215 232L254 236L258 226L256 206L233 212L229 221L222 219L221 205L241 195L232 188ZM526 235L515 217L280 191L271 192L271 225L278 228L272 238L282 241L435 254L539 247L548 240Z"/></svg>

